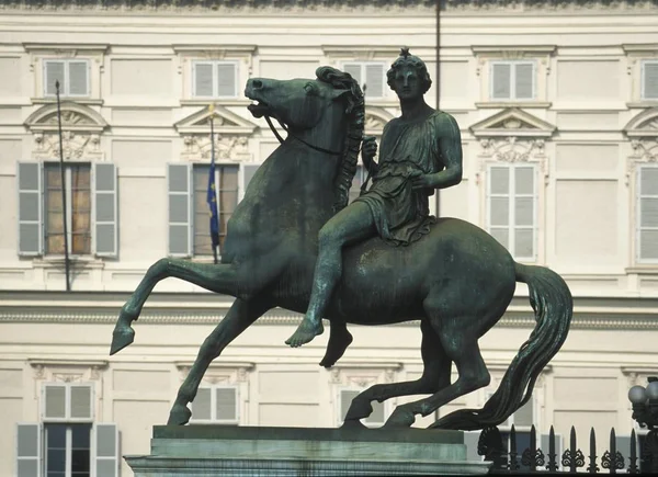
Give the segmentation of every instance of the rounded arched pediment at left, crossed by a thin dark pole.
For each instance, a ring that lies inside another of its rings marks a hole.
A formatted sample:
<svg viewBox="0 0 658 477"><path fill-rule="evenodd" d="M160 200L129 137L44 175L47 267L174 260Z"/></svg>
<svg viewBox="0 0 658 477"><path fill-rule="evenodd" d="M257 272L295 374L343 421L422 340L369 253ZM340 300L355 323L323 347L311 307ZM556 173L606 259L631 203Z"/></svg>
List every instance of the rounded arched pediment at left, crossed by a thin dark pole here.
<svg viewBox="0 0 658 477"><path fill-rule="evenodd" d="M61 129L83 133L101 133L107 123L99 113L83 104L65 101L60 104ZM57 132L57 104L46 104L25 120L25 126L33 133Z"/></svg>

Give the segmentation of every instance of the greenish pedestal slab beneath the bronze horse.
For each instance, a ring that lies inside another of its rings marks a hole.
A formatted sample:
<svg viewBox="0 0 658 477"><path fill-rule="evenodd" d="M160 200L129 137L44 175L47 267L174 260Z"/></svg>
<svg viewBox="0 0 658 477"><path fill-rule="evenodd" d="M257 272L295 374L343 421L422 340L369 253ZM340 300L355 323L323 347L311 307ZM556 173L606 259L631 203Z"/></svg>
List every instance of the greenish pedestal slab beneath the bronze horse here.
<svg viewBox="0 0 658 477"><path fill-rule="evenodd" d="M136 477L486 474L458 431L156 425Z"/></svg>

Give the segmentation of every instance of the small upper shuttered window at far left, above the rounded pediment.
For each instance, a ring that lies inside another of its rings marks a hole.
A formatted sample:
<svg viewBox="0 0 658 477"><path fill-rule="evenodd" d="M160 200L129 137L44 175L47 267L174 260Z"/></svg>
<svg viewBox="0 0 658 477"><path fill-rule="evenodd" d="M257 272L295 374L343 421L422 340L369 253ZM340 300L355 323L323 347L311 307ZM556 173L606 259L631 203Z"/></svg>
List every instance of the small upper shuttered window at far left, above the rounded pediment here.
<svg viewBox="0 0 658 477"><path fill-rule="evenodd" d="M89 60L44 60L44 96L56 95L56 81L61 96L89 96Z"/></svg>

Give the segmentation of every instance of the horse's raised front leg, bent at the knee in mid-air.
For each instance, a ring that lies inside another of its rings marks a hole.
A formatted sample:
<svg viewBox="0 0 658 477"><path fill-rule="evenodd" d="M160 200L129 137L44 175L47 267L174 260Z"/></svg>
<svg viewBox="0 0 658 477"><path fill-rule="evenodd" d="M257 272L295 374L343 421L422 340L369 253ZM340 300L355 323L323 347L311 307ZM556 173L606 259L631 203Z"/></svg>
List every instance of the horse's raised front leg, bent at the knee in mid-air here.
<svg viewBox="0 0 658 477"><path fill-rule="evenodd" d="M139 317L141 307L156 284L170 276L194 283L211 292L230 296L238 294L237 272L232 264L215 265L181 259L160 259L148 269L137 289L122 307L112 333L111 355L120 352L135 340L133 321Z"/></svg>

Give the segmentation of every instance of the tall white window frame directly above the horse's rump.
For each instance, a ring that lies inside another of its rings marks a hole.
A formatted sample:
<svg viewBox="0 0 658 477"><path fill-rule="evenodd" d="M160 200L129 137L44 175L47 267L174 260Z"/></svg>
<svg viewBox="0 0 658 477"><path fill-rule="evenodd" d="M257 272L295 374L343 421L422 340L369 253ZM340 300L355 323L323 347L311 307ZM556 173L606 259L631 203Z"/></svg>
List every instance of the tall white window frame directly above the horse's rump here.
<svg viewBox="0 0 658 477"><path fill-rule="evenodd" d="M506 247L507 250L510 252L510 254L513 257L513 259L518 262L522 262L522 263L536 263L537 262L537 257L538 257L538 180L537 180L537 173L538 173L538 167L535 163L532 162L514 162L514 163L507 163L507 162L490 162L487 164L487 191L486 191L486 201L485 201L485 205L486 205L486 213L485 213L485 229L487 230L488 234L491 234L491 197L494 196L502 196L500 194L492 194L491 192L491 169L492 168L508 168L509 169L509 193L506 195L509 198L509 203L508 203L508 246ZM515 204L517 204L517 198L518 195L515 193L515 185L517 185L517 180L514 177L514 172L515 169L518 168L532 168L533 170L533 193L532 195L529 194L523 194L521 196L521 198L523 197L529 197L532 196L533 198L533 223L532 223L532 249L533 249L533 255L532 257L520 257L515 254L515 245L517 245L517 237L515 237L515 230L521 228L521 229L527 229L530 228L530 226L517 226L515 225ZM494 226L495 228L503 228L503 226Z"/></svg>

